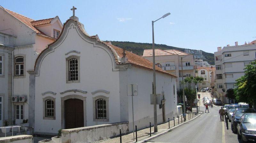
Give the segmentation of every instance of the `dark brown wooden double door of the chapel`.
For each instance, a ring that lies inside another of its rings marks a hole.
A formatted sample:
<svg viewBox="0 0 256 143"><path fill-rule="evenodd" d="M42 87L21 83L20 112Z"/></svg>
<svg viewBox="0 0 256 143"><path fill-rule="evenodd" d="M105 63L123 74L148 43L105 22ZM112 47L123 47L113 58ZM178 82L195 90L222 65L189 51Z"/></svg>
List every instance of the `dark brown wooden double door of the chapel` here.
<svg viewBox="0 0 256 143"><path fill-rule="evenodd" d="M65 100L65 128L84 126L84 102L80 99Z"/></svg>

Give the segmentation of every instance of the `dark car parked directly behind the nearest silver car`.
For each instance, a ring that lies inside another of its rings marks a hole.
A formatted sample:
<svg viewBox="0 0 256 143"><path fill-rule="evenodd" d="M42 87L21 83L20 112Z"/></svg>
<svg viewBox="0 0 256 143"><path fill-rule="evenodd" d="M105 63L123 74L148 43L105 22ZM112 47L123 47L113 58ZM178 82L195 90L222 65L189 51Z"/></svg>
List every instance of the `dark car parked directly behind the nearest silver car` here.
<svg viewBox="0 0 256 143"><path fill-rule="evenodd" d="M231 130L234 132L234 133L237 133L237 121L240 120L241 116L244 114L244 113L255 113L255 109L251 108L251 109L248 109L248 108L236 108L236 110L234 111L232 117L231 117Z"/></svg>

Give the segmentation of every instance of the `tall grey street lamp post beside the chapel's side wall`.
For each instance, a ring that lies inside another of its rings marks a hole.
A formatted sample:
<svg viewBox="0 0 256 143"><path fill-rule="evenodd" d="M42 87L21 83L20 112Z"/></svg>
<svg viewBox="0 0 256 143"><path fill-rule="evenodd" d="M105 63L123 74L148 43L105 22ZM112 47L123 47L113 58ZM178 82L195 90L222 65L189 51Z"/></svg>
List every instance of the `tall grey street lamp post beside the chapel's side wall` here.
<svg viewBox="0 0 256 143"><path fill-rule="evenodd" d="M163 15L161 18L165 18L168 15L170 15L171 13L166 13L165 15ZM161 19L158 18L157 20ZM157 132L157 114L156 114L156 63L155 63L155 41L154 41L154 22L152 21L152 48L153 48L153 94L154 94L154 132Z"/></svg>

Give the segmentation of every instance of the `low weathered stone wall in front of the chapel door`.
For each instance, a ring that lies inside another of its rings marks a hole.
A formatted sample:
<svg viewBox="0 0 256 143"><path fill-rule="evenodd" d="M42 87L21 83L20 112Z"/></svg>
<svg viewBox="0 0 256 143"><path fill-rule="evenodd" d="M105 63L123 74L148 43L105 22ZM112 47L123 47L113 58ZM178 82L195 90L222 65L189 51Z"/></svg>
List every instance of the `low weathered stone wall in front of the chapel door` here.
<svg viewBox="0 0 256 143"><path fill-rule="evenodd" d="M94 125L88 127L64 129L61 131L62 143L88 143L101 139L107 139L129 132L128 122L118 122L112 124Z"/></svg>

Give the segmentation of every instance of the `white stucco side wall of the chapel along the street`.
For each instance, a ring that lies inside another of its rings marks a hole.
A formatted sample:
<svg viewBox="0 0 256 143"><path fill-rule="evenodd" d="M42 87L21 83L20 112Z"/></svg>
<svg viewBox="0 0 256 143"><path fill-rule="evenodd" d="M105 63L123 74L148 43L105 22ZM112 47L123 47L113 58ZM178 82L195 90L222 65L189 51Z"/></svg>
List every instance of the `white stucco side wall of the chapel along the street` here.
<svg viewBox="0 0 256 143"><path fill-rule="evenodd" d="M121 78L122 77L122 78ZM134 109L134 125L137 128L144 128L149 126L149 122L154 124L154 110L153 105L150 104L150 94L152 94L152 82L153 82L153 71L142 68L131 67L126 72L120 74L120 86L123 90L120 90L121 101L121 116L129 118L129 131L132 131L132 97L127 96L126 86L127 84L138 84L138 96L133 97L133 109ZM156 73L156 93L162 94L164 90L165 96L165 118L172 119L176 116L176 104L177 99L173 95L173 85L176 81L175 77L170 75ZM177 95L177 92L175 91ZM125 107L128 108L128 115ZM121 117L122 118L122 117ZM163 122L162 109L159 109L157 105L157 123Z"/></svg>

